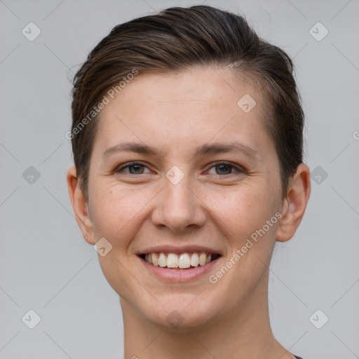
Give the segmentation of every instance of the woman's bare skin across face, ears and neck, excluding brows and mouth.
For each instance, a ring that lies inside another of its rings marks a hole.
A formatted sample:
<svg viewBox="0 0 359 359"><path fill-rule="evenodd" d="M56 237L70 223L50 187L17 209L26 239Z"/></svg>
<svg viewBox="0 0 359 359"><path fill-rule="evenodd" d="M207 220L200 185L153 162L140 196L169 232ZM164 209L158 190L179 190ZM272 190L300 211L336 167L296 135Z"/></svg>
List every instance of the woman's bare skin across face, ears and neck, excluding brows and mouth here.
<svg viewBox="0 0 359 359"><path fill-rule="evenodd" d="M249 113L237 105L245 94L257 102ZM112 245L98 258L120 297L126 359L294 358L271 332L269 264L275 242L292 238L302 220L310 172L299 165L282 198L278 156L260 120L262 110L260 94L228 69L138 75L100 113L88 203L76 168L69 168L69 196L83 236L91 245L100 238ZM102 158L105 149L127 141L156 147L163 157L122 152ZM214 142L241 142L257 156L194 157L196 147ZM130 161L144 167L116 173ZM217 161L233 167L219 168ZM165 177L174 165L184 174L177 184ZM276 212L280 220L210 283L209 275ZM168 283L137 257L149 245L206 245L222 257L196 280ZM175 328L166 320L172 311L183 318Z"/></svg>

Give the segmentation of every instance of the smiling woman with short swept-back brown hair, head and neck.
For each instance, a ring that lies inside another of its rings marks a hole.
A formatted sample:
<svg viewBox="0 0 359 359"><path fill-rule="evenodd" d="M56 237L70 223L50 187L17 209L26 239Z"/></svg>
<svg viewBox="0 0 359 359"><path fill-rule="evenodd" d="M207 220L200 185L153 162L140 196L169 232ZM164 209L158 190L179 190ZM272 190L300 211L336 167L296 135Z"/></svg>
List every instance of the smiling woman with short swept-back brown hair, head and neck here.
<svg viewBox="0 0 359 359"><path fill-rule="evenodd" d="M299 358L268 311L273 246L310 194L290 58L241 16L169 8L98 43L72 114L69 196L125 358Z"/></svg>

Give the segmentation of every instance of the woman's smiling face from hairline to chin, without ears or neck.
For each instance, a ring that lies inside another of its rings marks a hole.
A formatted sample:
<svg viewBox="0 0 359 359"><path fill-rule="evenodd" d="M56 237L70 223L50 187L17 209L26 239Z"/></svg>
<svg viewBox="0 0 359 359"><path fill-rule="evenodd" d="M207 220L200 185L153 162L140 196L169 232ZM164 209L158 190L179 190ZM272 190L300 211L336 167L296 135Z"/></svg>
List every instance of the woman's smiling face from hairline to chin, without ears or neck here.
<svg viewBox="0 0 359 359"><path fill-rule="evenodd" d="M128 311L194 327L263 297L283 203L261 111L255 89L210 68L138 75L101 111L88 241L111 243L100 265Z"/></svg>

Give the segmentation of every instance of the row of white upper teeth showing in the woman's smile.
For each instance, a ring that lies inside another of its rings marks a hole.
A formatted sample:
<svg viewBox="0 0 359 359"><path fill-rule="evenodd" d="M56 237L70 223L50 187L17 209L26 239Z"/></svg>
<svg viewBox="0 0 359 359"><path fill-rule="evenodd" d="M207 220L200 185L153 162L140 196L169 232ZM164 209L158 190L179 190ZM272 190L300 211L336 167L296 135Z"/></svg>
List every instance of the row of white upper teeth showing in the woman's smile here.
<svg viewBox="0 0 359 359"><path fill-rule="evenodd" d="M204 266L212 260L212 255L201 253L148 253L144 259L154 266L168 268L189 268L190 266Z"/></svg>

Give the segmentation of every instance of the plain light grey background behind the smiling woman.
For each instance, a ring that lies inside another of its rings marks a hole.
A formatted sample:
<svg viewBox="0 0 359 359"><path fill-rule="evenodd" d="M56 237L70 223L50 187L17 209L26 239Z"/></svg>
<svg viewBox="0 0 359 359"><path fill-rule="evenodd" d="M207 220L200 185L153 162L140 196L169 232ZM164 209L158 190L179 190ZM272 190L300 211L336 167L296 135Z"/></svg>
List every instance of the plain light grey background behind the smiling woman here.
<svg viewBox="0 0 359 359"><path fill-rule="evenodd" d="M201 2L0 0L1 359L122 358L118 296L81 236L67 192L69 79L114 25L195 4ZM276 245L273 332L304 359L359 358L358 1L204 4L240 10L294 58L307 120L305 160L312 171L320 166L299 230ZM29 22L41 29L34 41L22 34ZM317 22L329 31L321 41L310 32ZM30 166L40 175L32 184ZM22 321L29 309L41 317L34 329ZM324 314L311 317L318 309ZM318 325L324 315L329 321L317 329L313 318Z"/></svg>

